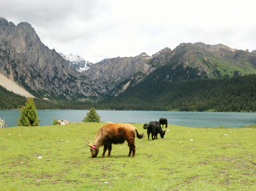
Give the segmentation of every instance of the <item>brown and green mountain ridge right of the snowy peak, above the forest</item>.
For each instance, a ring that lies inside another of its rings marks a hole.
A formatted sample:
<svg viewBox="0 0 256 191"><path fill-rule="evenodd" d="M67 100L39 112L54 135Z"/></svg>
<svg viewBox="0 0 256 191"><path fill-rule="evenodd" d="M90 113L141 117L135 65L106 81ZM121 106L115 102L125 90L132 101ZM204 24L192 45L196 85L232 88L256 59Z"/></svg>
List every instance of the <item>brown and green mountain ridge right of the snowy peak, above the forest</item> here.
<svg viewBox="0 0 256 191"><path fill-rule="evenodd" d="M188 72L187 76L179 79L191 79L192 76L232 77L256 73L256 56L223 44L181 43L173 50L166 47L152 56L143 52L134 57L110 58L96 63L83 73L95 81L104 83L110 94L117 96L128 87L143 81L155 70L156 74L152 80L162 77L166 80L178 79L176 73L180 74L181 70L196 73Z"/></svg>

